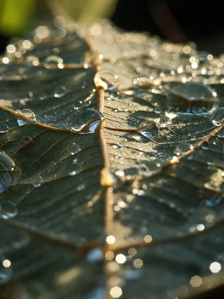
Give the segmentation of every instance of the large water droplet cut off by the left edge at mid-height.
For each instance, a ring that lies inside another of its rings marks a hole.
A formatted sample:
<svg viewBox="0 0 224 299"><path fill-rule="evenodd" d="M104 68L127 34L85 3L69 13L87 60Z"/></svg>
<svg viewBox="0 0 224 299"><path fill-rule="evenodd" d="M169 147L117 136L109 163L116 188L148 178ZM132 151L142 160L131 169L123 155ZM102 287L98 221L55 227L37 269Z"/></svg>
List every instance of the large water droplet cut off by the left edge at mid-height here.
<svg viewBox="0 0 224 299"><path fill-rule="evenodd" d="M21 169L5 153L0 152L0 193L16 183L21 176Z"/></svg>

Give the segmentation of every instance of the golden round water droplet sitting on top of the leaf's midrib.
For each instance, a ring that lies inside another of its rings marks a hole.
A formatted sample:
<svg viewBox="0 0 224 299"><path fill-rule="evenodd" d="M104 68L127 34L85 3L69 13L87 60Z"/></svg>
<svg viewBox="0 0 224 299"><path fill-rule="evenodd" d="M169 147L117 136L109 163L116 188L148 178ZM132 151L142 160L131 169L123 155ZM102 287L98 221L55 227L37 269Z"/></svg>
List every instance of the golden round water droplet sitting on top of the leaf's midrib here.
<svg viewBox="0 0 224 299"><path fill-rule="evenodd" d="M103 87L104 90L113 90L119 86L118 76L111 70L102 70L94 77L96 87Z"/></svg>

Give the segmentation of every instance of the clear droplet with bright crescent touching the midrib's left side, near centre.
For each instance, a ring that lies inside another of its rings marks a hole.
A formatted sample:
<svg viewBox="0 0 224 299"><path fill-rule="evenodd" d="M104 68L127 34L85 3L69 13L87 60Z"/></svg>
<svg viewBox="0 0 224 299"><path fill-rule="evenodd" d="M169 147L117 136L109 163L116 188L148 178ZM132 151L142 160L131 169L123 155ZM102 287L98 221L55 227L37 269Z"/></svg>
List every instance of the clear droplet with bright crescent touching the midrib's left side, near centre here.
<svg viewBox="0 0 224 299"><path fill-rule="evenodd" d="M85 109L78 112L72 120L72 131L79 134L94 133L103 122L101 112L94 109Z"/></svg>

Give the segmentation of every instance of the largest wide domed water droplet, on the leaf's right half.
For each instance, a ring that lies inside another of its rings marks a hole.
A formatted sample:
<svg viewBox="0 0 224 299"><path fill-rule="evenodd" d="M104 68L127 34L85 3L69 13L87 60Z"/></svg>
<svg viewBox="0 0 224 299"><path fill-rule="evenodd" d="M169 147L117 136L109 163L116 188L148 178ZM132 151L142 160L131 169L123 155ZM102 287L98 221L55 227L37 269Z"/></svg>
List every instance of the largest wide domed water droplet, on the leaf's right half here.
<svg viewBox="0 0 224 299"><path fill-rule="evenodd" d="M187 82L174 86L167 97L167 108L182 113L212 113L219 107L216 92L209 86Z"/></svg>

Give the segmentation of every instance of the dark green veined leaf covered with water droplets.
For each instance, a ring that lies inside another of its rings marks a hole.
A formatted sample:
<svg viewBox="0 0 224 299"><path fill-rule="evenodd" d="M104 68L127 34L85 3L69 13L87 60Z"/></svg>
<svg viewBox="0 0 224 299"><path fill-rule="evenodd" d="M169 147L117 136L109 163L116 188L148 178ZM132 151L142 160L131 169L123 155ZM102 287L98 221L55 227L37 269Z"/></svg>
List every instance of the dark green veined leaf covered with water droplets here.
<svg viewBox="0 0 224 299"><path fill-rule="evenodd" d="M18 40L2 57L0 149L21 177L11 182L14 170L0 161L1 293L209 298L224 285L224 125L167 109L186 81L210 84L222 107L222 57L94 26L38 27L42 37ZM120 78L117 89L95 86L104 69ZM149 74L142 88L132 86L137 74ZM94 134L71 131L87 108L105 122ZM144 121L160 122L154 139L136 130Z"/></svg>

